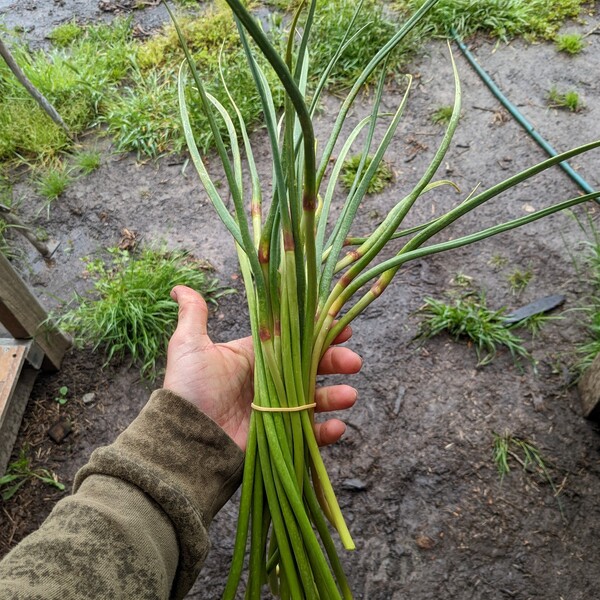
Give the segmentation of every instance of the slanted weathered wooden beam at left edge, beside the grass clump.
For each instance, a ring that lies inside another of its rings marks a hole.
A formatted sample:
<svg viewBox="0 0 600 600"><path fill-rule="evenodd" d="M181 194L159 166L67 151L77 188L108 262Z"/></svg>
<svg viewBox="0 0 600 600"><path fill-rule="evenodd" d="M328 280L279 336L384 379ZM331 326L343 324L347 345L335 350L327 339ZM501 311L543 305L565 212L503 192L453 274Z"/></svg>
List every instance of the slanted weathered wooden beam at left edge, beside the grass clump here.
<svg viewBox="0 0 600 600"><path fill-rule="evenodd" d="M58 369L71 341L47 321L48 314L0 252L0 322L16 339L34 339L45 354L44 369Z"/></svg>

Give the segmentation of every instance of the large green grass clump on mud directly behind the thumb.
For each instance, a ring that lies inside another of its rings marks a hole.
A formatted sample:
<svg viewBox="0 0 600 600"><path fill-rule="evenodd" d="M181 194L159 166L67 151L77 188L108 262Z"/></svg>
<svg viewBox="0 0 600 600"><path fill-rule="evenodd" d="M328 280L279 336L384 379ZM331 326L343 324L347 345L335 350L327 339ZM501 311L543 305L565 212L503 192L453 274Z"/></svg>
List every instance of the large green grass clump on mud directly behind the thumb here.
<svg viewBox="0 0 600 600"><path fill-rule="evenodd" d="M187 285L213 303L229 290L219 287L216 278L181 250L108 252L107 262L88 261L93 289L77 296L75 306L57 322L79 345L103 348L106 363L129 358L143 376L155 378L157 361L166 355L177 324L177 303L170 297L173 287Z"/></svg>

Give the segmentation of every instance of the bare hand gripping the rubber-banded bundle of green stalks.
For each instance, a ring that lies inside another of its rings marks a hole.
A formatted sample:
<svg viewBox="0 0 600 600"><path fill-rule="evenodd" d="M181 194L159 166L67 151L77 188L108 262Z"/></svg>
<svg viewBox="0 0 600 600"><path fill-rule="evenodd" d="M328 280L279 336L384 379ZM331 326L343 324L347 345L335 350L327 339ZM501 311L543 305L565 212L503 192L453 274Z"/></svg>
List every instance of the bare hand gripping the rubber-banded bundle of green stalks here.
<svg viewBox="0 0 600 600"><path fill-rule="evenodd" d="M177 329L169 341L163 387L188 400L223 428L242 449L246 448L253 400L254 350L252 338L215 344L207 333L208 307L194 290L183 285L173 288L171 297L179 304ZM349 327L336 344L352 335ZM322 375L357 373L362 359L349 348L329 348L319 365ZM316 412L350 408L357 392L349 385L318 388ZM339 419L315 424L320 445L342 437L346 425Z"/></svg>

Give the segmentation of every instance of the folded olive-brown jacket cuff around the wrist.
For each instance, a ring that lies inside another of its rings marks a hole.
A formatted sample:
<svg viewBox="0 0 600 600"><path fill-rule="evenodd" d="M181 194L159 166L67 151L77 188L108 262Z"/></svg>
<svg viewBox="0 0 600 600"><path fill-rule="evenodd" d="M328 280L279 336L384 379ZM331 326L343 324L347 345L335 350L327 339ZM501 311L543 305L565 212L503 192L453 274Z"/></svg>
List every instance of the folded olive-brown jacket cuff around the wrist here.
<svg viewBox="0 0 600 600"><path fill-rule="evenodd" d="M150 496L175 527L183 570L179 577L187 580L205 559L206 529L239 486L243 463L244 453L212 419L162 389L113 444L92 453L74 489L101 474L128 481Z"/></svg>

